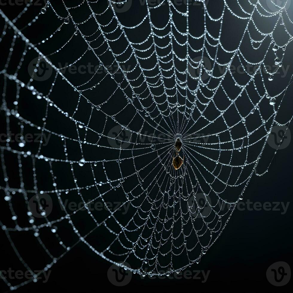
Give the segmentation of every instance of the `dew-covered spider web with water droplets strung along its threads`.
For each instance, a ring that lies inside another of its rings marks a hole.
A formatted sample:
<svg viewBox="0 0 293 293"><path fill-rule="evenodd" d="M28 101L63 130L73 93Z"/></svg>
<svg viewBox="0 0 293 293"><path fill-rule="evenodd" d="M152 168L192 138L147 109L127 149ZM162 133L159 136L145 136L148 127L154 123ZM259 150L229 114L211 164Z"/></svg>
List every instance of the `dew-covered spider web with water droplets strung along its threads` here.
<svg viewBox="0 0 293 293"><path fill-rule="evenodd" d="M0 224L33 273L4 279L10 289L37 281L80 242L142 275L199 263L252 176L268 171L273 126L292 119L276 120L291 82L280 78L292 41L288 1L72 2L32 2L15 18L0 10L9 211ZM35 132L40 140L28 143ZM177 138L184 163L175 171ZM25 259L19 234L44 264Z"/></svg>

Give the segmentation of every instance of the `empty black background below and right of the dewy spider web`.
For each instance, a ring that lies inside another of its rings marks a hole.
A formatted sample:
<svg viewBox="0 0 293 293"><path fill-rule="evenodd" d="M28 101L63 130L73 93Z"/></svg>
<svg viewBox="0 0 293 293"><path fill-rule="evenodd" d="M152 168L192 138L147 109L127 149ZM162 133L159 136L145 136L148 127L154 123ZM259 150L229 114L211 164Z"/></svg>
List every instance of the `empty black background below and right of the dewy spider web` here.
<svg viewBox="0 0 293 293"><path fill-rule="evenodd" d="M7 15L14 15L15 11L11 9L14 7L4 7L3 11ZM40 31L35 33L42 33L42 26ZM287 54L290 55L289 52ZM290 60L290 56L287 58ZM6 57L4 59L6 60ZM293 106L291 88L286 95L286 105L286 109L282 110L289 117ZM141 276L132 275L130 283L119 288L107 278L110 264L90 251L83 243L79 243L54 265L47 283L29 283L18 289L18 292L97 292L105 289L121 292L147 292L156 289L179 292L289 292L292 281L286 286L274 287L266 278L266 270L278 261L285 261L292 268L292 162L291 142L287 148L277 152L268 173L262 177L253 176L245 192L245 200L250 199L252 202L284 202L285 205L289 202L286 213L282 214L282 209L236 210L215 245L198 265L190 268L192 271L210 270L206 283L202 283L202 280L184 278L150 280L148 277L142 279ZM3 231L0 231L0 235L1 260L4 261L4 258L10 255L10 252L6 252L9 243ZM38 251L36 250L31 257L37 259ZM8 261L14 260L13 256ZM7 290L3 282L0 283L0 287L1 292Z"/></svg>

